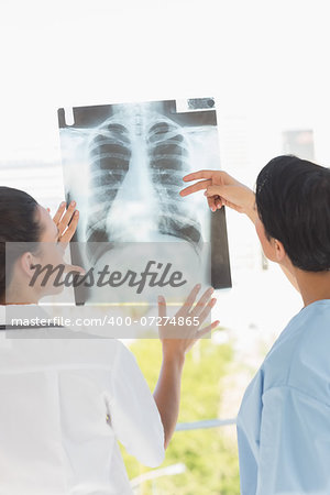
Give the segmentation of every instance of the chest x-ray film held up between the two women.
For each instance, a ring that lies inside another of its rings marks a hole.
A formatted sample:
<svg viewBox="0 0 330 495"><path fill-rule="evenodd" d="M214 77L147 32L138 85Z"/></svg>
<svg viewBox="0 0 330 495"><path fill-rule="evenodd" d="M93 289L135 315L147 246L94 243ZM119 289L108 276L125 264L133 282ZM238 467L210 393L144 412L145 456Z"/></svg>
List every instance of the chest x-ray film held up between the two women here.
<svg viewBox="0 0 330 495"><path fill-rule="evenodd" d="M66 199L80 211L75 264L111 264L117 252L122 270L134 263L139 272L143 252L162 263L179 256L204 277L196 282L231 287L224 210L211 213L202 193L179 196L188 173L220 169L213 106L202 98L58 110ZM82 301L98 297L89 289Z"/></svg>

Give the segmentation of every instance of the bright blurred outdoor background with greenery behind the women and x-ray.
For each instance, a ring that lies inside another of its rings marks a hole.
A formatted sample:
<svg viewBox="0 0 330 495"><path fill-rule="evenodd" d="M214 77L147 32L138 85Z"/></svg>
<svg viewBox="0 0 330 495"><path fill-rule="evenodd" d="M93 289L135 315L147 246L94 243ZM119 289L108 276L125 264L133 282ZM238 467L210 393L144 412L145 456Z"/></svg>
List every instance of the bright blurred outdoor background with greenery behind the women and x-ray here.
<svg viewBox="0 0 330 495"><path fill-rule="evenodd" d="M274 156L330 164L330 34L320 0L1 0L0 184L54 213L64 198L57 108L215 97L221 166L254 186ZM123 452L138 494L239 494L234 419L274 340L302 307L227 210L233 288L187 358L164 465ZM153 388L161 349L130 344Z"/></svg>

